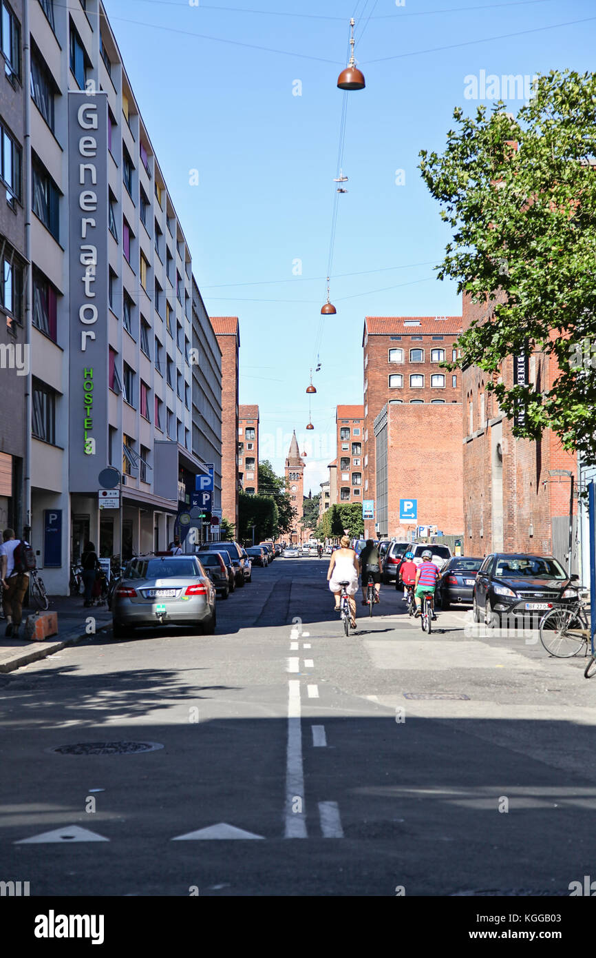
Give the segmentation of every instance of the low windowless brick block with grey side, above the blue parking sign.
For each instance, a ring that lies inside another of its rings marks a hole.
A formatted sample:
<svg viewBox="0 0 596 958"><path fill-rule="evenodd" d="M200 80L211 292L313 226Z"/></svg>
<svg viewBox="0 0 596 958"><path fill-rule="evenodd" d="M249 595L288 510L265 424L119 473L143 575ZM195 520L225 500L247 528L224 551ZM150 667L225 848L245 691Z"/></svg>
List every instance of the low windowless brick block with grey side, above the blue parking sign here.
<svg viewBox="0 0 596 958"><path fill-rule="evenodd" d="M374 423L376 536L408 539L416 525L461 534L461 402L386 403ZM421 447L421 436L429 445ZM417 519L400 519L400 499L417 500ZM371 523L372 525L372 523ZM366 536L366 532L364 536Z"/></svg>

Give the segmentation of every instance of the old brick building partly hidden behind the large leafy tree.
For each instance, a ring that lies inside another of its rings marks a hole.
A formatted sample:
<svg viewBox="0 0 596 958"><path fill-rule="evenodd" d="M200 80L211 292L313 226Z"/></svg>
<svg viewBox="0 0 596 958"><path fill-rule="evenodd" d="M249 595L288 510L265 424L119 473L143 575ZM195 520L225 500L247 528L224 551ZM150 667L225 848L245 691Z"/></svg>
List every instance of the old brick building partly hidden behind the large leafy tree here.
<svg viewBox="0 0 596 958"><path fill-rule="evenodd" d="M490 318L487 307L463 301L463 326L473 319ZM551 387L556 361L543 353L520 357L527 381L537 391ZM514 359L501 370L512 385ZM462 373L464 550L469 555L490 552L538 552L554 555L568 567L570 477L577 482L577 456L563 450L548 430L539 443L514 439L512 423L504 418L497 399L486 391L488 376L475 366ZM575 507L574 507L575 512ZM574 519L575 526L575 519ZM578 556L573 533L571 570Z"/></svg>

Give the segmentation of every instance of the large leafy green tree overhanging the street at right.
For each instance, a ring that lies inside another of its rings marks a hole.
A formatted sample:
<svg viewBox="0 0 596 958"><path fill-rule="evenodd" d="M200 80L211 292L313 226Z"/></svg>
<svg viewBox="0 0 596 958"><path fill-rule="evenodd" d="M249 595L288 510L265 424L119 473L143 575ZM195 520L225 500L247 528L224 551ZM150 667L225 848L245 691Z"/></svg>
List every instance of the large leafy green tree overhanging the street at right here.
<svg viewBox="0 0 596 958"><path fill-rule="evenodd" d="M500 102L453 118L445 152L422 150L420 170L453 231L437 276L456 280L484 314L446 365L489 374L505 415L524 411L515 436L538 440L552 429L593 461L596 74L541 76L515 118ZM510 385L506 361L530 351L556 358L554 381Z"/></svg>

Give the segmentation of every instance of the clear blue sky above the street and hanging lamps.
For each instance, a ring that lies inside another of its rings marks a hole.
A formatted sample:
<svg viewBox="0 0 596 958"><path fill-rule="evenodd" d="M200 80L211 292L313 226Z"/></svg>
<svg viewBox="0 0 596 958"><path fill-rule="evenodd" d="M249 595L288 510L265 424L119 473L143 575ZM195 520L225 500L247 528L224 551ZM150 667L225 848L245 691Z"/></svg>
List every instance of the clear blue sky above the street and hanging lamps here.
<svg viewBox="0 0 596 958"><path fill-rule="evenodd" d="M433 276L448 235L416 169L419 150L444 148L455 105L475 111L467 76L593 70L596 3L104 4L206 306L240 318L240 401L260 407L261 449L281 471L296 428L308 452L305 489L319 491L335 456L335 406L363 400L364 315L461 312L454 285ZM366 88L347 95L349 192L339 197L331 280L338 312L321 331L343 97L336 83L351 15ZM509 100L515 112L522 102ZM198 186L189 185L191 170ZM305 432L318 339L315 430Z"/></svg>

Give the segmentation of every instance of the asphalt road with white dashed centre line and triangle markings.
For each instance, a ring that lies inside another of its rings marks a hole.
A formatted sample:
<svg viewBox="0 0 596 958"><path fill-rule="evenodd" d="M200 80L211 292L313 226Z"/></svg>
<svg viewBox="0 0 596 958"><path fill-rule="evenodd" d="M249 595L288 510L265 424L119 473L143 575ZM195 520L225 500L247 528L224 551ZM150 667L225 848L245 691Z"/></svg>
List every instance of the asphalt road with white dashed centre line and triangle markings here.
<svg viewBox="0 0 596 958"><path fill-rule="evenodd" d="M0 879L32 896L566 896L590 875L584 659L484 635L463 609L428 637L389 586L345 638L326 568L254 568L213 636L99 633L0 676ZM147 741L163 747L49 751Z"/></svg>

